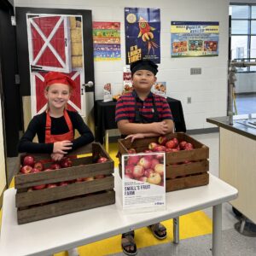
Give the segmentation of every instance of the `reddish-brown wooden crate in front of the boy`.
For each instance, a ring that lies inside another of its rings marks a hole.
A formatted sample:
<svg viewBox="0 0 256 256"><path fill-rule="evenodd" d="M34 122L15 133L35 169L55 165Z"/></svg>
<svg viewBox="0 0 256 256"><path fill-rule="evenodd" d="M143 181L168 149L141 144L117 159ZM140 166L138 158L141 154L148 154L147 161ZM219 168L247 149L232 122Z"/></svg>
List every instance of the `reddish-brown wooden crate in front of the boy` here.
<svg viewBox="0 0 256 256"><path fill-rule="evenodd" d="M166 137L168 140L176 137L179 142L187 141L195 147L193 150L166 153L166 191L188 189L209 183L209 148L183 132L167 134ZM119 139L119 163L121 164L121 155L128 154L128 149L135 148L137 153L140 153L148 149L149 143L157 143L157 140L158 137L147 137L131 143L131 139ZM189 163L184 163L185 161Z"/></svg>

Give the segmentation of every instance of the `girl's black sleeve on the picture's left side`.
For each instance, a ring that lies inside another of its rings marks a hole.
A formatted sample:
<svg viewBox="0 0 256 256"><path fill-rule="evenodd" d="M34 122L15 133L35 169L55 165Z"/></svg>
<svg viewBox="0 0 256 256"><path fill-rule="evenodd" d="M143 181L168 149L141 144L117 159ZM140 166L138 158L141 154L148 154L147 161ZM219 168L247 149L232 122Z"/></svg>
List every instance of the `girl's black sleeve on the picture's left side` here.
<svg viewBox="0 0 256 256"><path fill-rule="evenodd" d="M42 124L37 117L33 117L27 126L26 132L20 138L18 146L19 152L27 153L48 153L51 154L53 151L53 143L33 143L33 139L38 133L39 129L42 129Z"/></svg>

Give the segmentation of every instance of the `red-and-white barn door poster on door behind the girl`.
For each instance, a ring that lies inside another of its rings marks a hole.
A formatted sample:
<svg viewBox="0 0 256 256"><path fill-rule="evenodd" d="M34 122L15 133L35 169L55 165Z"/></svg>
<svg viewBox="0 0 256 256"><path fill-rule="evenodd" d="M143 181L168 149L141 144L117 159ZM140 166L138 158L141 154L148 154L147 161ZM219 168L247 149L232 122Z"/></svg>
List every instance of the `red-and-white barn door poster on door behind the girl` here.
<svg viewBox="0 0 256 256"><path fill-rule="evenodd" d="M67 109L85 116L83 22L80 15L27 14L28 53L32 116L47 108L44 76L50 71L66 73L76 84Z"/></svg>

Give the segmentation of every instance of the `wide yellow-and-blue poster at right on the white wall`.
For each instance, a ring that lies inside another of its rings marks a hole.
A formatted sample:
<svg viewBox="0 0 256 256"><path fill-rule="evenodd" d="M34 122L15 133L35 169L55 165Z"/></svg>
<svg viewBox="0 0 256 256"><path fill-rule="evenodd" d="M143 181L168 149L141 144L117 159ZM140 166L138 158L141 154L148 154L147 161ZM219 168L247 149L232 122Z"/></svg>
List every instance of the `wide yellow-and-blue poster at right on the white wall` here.
<svg viewBox="0 0 256 256"><path fill-rule="evenodd" d="M218 56L218 22L172 21L172 57Z"/></svg>

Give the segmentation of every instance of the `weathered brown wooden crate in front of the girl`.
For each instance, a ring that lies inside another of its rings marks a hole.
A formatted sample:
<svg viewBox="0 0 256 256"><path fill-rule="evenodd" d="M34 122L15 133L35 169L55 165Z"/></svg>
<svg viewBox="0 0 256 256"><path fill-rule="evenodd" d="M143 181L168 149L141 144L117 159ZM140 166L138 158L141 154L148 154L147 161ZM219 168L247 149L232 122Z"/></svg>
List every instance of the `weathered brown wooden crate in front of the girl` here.
<svg viewBox="0 0 256 256"><path fill-rule="evenodd" d="M77 158L77 155L87 153L92 154ZM99 155L108 158L108 161L96 163ZM24 156L25 154L20 154L20 162ZM53 163L47 154L33 154L33 156L36 160L44 160L45 168ZM72 167L15 175L18 224L115 203L113 160L102 148L102 145L92 143L90 147L80 148L68 156L73 161ZM39 184L60 183L101 174L105 177L79 183L68 183L66 186L49 189L29 189Z"/></svg>

